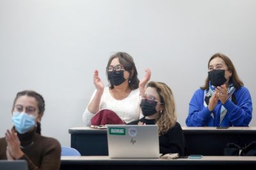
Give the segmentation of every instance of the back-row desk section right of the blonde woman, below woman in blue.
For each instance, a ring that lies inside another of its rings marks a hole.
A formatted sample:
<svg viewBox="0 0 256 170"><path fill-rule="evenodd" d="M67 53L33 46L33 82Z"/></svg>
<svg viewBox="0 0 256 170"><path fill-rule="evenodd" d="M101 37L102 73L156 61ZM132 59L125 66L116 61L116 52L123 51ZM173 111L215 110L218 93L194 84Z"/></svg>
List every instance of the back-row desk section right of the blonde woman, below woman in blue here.
<svg viewBox="0 0 256 170"><path fill-rule="evenodd" d="M227 143L246 146L256 141L256 128L230 127L182 127L187 146L187 155L223 155Z"/></svg>

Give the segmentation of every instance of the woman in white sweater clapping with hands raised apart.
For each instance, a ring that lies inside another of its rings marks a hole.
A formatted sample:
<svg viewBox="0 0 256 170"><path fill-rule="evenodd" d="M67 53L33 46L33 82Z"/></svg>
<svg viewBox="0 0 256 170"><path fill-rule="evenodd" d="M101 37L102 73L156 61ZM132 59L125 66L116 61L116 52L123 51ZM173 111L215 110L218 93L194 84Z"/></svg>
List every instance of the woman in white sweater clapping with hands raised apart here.
<svg viewBox="0 0 256 170"><path fill-rule="evenodd" d="M145 84L150 79L150 70L147 69L145 77L139 81L132 57L126 52L117 52L109 58L106 75L108 87L104 87L98 71L94 72L93 83L96 89L83 113L85 125L90 126L94 114L102 109L115 112L125 123L138 120L140 93L144 93Z"/></svg>

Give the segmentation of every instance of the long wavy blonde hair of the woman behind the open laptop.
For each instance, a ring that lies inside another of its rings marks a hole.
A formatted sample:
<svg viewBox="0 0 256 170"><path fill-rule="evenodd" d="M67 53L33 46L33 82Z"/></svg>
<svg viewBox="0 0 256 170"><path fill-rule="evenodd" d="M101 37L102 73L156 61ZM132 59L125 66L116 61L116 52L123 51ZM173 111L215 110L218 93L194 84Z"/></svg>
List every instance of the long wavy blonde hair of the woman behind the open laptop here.
<svg viewBox="0 0 256 170"><path fill-rule="evenodd" d="M177 121L172 90L164 82L150 81L147 87L156 88L161 103L163 103L161 104L163 105L163 110L159 113L156 125L158 125L159 134L164 134L169 128L174 127Z"/></svg>

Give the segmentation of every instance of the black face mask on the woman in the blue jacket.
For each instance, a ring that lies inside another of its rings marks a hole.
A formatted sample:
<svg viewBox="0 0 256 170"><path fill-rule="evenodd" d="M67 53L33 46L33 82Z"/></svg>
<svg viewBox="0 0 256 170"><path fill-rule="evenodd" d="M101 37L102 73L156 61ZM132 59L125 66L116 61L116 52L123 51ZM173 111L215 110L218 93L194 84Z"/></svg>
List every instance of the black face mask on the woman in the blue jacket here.
<svg viewBox="0 0 256 170"><path fill-rule="evenodd" d="M225 78L225 70L212 70L208 72L208 77L211 81L212 86L221 86L227 79Z"/></svg>

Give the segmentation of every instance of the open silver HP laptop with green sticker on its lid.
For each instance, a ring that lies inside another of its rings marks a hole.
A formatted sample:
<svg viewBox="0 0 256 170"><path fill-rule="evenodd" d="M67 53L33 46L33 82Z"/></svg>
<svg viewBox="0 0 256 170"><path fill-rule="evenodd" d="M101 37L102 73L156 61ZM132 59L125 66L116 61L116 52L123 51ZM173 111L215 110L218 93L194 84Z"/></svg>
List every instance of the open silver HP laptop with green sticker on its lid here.
<svg viewBox="0 0 256 170"><path fill-rule="evenodd" d="M157 125L107 125L110 158L159 158Z"/></svg>

